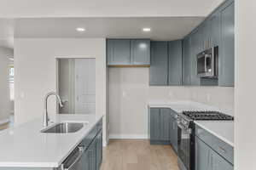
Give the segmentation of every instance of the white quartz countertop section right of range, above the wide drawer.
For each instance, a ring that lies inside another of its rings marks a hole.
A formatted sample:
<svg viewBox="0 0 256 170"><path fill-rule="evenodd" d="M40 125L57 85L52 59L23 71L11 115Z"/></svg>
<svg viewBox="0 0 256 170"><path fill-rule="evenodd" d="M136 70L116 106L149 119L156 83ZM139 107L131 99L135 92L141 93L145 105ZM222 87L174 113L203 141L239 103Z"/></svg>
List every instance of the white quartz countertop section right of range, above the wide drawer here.
<svg viewBox="0 0 256 170"><path fill-rule="evenodd" d="M234 122L233 121L195 121L195 124L212 133L218 139L234 147Z"/></svg>

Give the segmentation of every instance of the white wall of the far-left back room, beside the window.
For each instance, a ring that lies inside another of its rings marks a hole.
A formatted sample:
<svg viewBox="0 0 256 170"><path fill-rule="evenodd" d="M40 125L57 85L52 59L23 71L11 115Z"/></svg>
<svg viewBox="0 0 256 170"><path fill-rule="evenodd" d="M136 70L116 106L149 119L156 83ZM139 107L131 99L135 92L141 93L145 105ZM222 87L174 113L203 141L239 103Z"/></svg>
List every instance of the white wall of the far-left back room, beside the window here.
<svg viewBox="0 0 256 170"><path fill-rule="evenodd" d="M10 115L9 99L9 57L14 56L11 48L0 48L0 122Z"/></svg>

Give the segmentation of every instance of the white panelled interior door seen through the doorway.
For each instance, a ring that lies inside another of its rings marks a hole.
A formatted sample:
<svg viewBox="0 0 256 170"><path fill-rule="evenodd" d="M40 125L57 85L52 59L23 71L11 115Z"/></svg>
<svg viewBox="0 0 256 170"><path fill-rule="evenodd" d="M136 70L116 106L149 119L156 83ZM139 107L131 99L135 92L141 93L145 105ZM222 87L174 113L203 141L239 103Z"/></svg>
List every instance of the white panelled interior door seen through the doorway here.
<svg viewBox="0 0 256 170"><path fill-rule="evenodd" d="M96 113L96 60L75 59L75 113Z"/></svg>

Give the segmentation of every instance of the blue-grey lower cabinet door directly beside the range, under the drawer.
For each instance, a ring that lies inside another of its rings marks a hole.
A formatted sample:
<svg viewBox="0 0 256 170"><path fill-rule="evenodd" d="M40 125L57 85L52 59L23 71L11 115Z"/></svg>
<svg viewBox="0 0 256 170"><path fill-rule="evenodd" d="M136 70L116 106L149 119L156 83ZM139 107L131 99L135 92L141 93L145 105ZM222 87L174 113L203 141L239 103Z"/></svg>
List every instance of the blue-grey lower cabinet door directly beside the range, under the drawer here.
<svg viewBox="0 0 256 170"><path fill-rule="evenodd" d="M195 137L195 169L212 170L210 166L211 149L201 139ZM220 169L219 169L220 170Z"/></svg>

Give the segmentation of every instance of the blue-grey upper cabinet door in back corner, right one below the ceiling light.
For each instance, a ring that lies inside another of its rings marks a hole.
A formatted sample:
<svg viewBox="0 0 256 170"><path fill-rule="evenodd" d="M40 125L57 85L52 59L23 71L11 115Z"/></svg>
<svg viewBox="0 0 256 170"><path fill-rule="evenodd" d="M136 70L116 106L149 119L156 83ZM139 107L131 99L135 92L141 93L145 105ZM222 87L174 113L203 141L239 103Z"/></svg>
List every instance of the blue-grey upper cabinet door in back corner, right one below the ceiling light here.
<svg viewBox="0 0 256 170"><path fill-rule="evenodd" d="M171 86L182 85L182 41L168 43L169 75L168 84Z"/></svg>

